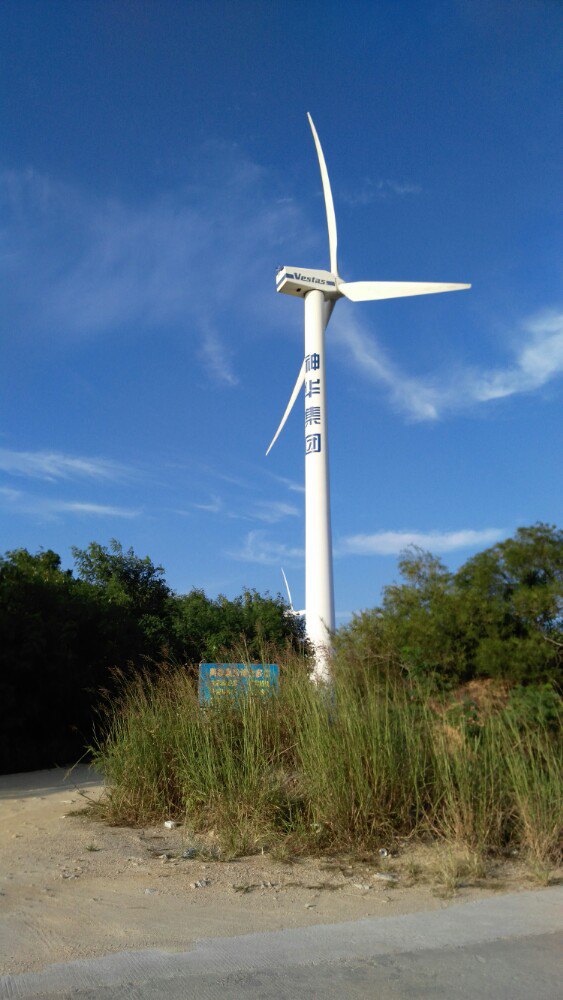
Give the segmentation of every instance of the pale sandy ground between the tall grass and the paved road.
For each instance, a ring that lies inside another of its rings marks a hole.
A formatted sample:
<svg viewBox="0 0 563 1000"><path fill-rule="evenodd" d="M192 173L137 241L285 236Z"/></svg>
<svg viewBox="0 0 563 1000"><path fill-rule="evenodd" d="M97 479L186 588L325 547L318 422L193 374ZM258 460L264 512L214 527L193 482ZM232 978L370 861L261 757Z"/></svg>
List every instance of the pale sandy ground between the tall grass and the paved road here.
<svg viewBox="0 0 563 1000"><path fill-rule="evenodd" d="M188 841L179 828L109 827L84 815L85 798L102 791L87 767L68 776L63 770L0 776L0 972L126 948L180 951L201 938L430 911L494 891L490 884L462 887L444 898L435 885L413 884L404 859L402 867L386 861L387 872L336 859L185 859ZM389 867L396 881L378 877L388 879ZM521 884L509 873L503 888Z"/></svg>

